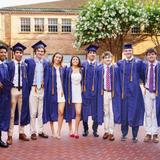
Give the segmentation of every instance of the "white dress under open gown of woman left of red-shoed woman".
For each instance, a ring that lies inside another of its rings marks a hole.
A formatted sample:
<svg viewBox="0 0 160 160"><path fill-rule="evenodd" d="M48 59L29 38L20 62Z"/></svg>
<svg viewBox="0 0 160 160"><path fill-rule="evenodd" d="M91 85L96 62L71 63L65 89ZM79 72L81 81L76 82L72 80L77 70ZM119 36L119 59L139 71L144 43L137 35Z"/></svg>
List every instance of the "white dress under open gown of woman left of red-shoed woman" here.
<svg viewBox="0 0 160 160"><path fill-rule="evenodd" d="M59 68L56 68L56 80L57 80L58 103L65 102L65 97L64 97L64 92L63 92L63 88L62 88L62 82L61 82L61 78L60 78Z"/></svg>

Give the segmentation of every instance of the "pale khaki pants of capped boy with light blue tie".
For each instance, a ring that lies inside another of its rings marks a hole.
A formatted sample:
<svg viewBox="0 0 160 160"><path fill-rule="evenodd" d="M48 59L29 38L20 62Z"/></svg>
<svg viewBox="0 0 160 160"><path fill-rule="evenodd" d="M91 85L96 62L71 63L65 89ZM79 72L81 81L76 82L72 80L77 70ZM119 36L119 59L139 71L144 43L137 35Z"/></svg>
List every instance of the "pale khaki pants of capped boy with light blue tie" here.
<svg viewBox="0 0 160 160"><path fill-rule="evenodd" d="M37 89L35 86L32 86L31 93L29 96L31 134L36 133L36 117L38 120L38 132L43 132L43 96L43 88Z"/></svg>

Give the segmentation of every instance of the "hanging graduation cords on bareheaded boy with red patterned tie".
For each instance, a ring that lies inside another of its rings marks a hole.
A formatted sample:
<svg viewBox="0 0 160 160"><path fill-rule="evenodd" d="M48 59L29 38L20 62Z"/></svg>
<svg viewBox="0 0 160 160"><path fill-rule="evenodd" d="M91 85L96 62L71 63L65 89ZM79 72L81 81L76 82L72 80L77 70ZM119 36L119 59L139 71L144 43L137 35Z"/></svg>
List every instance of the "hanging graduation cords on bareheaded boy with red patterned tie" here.
<svg viewBox="0 0 160 160"><path fill-rule="evenodd" d="M112 68L112 77L111 77L111 79L112 79L112 82L111 82L111 84L112 84L112 98L114 97L114 77L115 77L115 75L114 75L114 70L115 70L115 66L114 65L112 65L111 66ZM103 95L104 94L104 69L102 68L102 79L101 79L101 95Z"/></svg>

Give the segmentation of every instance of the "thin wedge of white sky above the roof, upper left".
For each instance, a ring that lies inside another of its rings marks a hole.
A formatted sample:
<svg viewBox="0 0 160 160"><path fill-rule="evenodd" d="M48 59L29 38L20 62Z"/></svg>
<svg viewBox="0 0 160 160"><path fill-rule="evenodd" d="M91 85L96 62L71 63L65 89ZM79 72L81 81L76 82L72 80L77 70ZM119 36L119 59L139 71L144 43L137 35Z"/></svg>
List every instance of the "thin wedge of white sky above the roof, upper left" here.
<svg viewBox="0 0 160 160"><path fill-rule="evenodd" d="M0 0L0 8L10 7L16 5L24 5L24 4L36 4L41 2L53 2L60 0Z"/></svg>

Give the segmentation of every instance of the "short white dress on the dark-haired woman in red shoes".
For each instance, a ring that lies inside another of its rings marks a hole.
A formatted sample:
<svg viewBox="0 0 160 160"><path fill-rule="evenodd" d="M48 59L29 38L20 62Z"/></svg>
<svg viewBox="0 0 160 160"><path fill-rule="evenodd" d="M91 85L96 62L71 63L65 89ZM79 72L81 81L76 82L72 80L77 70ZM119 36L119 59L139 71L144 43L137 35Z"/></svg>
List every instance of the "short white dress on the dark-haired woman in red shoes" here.
<svg viewBox="0 0 160 160"><path fill-rule="evenodd" d="M72 103L82 103L81 79L82 76L79 72L72 72Z"/></svg>

